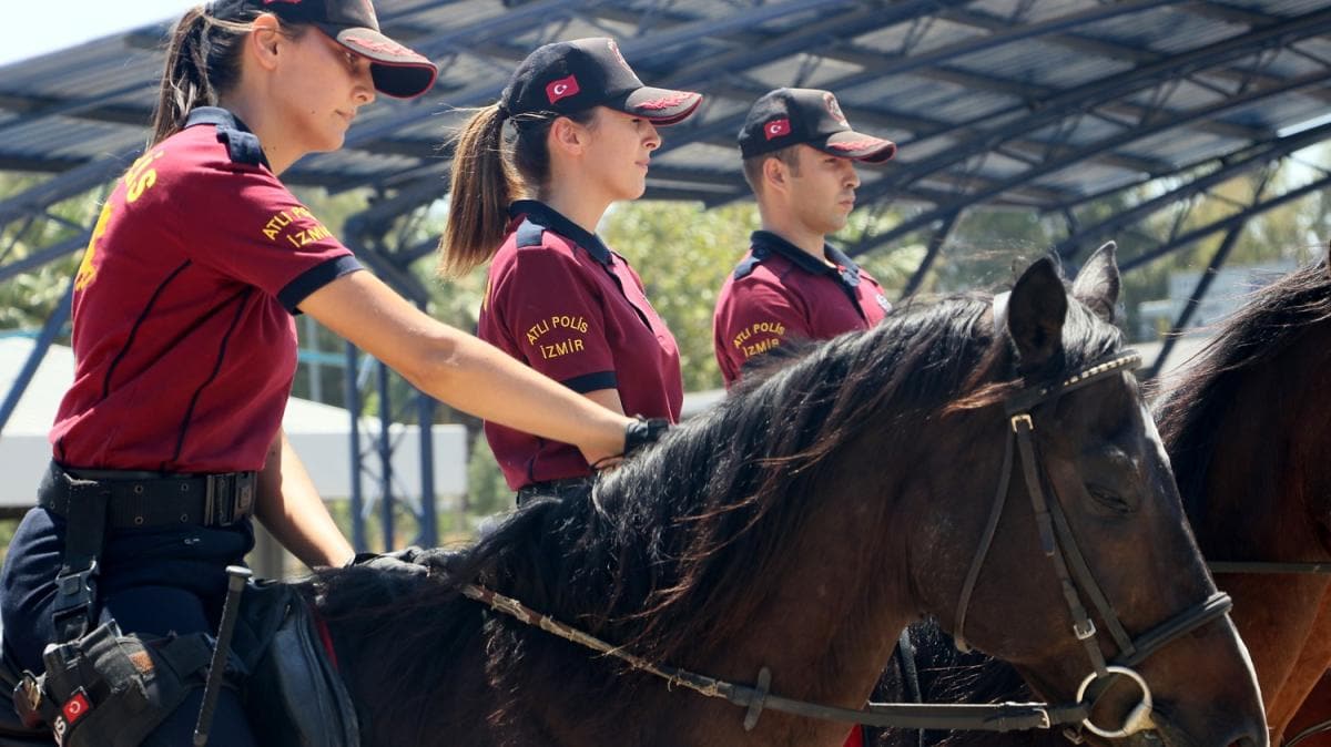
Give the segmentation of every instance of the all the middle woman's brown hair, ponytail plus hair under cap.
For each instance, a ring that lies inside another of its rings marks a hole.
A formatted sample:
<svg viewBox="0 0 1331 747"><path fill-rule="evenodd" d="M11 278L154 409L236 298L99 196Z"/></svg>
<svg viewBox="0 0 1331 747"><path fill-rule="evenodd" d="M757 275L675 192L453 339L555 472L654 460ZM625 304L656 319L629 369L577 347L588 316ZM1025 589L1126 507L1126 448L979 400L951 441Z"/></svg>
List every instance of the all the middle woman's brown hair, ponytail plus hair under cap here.
<svg viewBox="0 0 1331 747"><path fill-rule="evenodd" d="M458 134L453 154L449 223L439 241L439 274L457 278L484 265L503 243L508 205L535 195L550 181L550 126L560 114L518 114L511 120L498 104L476 112ZM564 114L590 125L595 109ZM510 149L503 124L518 134Z"/></svg>

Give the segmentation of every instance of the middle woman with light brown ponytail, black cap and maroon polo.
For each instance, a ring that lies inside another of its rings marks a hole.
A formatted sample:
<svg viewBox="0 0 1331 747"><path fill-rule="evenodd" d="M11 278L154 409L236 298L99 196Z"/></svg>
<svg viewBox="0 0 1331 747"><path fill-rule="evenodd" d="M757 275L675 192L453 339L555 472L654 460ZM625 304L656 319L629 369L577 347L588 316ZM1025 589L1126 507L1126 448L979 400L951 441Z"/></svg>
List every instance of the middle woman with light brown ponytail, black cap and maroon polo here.
<svg viewBox="0 0 1331 747"><path fill-rule="evenodd" d="M610 39L547 44L458 138L441 243L446 274L491 261L479 336L616 412L679 419L679 350L623 257L596 235L610 203L646 189L656 126L701 96L643 85ZM511 124L511 148L504 124ZM516 199L528 195L530 199ZM490 420L523 502L586 489L586 452ZM595 460L591 460L595 461Z"/></svg>

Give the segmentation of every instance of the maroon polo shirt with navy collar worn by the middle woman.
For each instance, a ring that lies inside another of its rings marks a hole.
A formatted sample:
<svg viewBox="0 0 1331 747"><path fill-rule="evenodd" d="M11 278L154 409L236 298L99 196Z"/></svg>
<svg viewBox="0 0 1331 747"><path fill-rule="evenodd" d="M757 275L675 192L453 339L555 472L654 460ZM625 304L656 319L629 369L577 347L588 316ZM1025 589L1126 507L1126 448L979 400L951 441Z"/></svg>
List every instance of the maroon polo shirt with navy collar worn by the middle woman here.
<svg viewBox="0 0 1331 747"><path fill-rule="evenodd" d="M615 389L628 415L679 420L679 348L623 257L554 209L518 201L490 263L480 339L580 393ZM486 423L514 490L591 475L576 447Z"/></svg>

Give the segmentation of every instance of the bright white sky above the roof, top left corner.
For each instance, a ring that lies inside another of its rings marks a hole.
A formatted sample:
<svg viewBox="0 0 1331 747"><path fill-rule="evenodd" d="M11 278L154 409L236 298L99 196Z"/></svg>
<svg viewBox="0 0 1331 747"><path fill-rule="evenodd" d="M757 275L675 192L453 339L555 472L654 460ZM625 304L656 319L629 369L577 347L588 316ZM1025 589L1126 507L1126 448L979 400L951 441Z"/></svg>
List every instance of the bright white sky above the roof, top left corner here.
<svg viewBox="0 0 1331 747"><path fill-rule="evenodd" d="M174 20L205 0L7 0L0 24L0 65L92 39Z"/></svg>

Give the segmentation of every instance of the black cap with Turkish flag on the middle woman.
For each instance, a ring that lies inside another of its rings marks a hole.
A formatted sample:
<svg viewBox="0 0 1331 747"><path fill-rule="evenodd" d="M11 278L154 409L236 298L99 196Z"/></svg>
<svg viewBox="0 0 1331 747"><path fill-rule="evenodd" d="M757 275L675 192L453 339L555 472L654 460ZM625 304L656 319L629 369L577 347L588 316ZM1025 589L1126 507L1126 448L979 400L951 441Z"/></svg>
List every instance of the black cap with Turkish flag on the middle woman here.
<svg viewBox="0 0 1331 747"><path fill-rule="evenodd" d="M614 39L555 41L518 65L499 98L510 116L572 114L608 106L654 125L673 125L697 109L700 93L643 85Z"/></svg>

